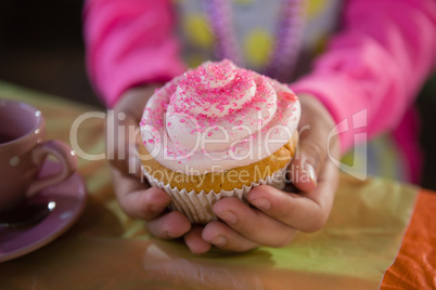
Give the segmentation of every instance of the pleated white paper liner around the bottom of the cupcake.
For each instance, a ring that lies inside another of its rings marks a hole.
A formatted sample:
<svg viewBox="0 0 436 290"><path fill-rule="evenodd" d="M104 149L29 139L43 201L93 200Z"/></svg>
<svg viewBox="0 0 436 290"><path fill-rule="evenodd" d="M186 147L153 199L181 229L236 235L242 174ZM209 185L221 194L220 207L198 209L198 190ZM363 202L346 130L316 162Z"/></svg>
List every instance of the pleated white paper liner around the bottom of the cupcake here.
<svg viewBox="0 0 436 290"><path fill-rule="evenodd" d="M202 190L200 194L195 193L195 190L187 192L184 188L171 188L169 184L165 184L152 177L144 168L142 168L142 172L149 180L150 185L163 188L171 197L170 209L182 212L192 223L206 224L210 221L218 220L211 208L215 202L223 197L236 197L246 202L248 192L260 184L267 184L283 189L285 187L284 173L287 166L288 163L286 167L267 176L266 180L259 180L257 183L252 182L249 186L243 185L242 188L221 190L219 193L215 193L214 190L205 193Z"/></svg>

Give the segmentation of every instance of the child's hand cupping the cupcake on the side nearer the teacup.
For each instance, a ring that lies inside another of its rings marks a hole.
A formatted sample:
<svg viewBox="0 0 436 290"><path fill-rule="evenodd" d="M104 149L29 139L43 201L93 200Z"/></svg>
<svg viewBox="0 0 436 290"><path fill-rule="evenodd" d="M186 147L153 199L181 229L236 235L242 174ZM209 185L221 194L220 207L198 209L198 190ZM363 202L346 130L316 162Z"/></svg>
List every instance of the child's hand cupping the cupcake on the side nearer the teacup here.
<svg viewBox="0 0 436 290"><path fill-rule="evenodd" d="M115 144L107 146L114 147L111 171L115 194L123 210L132 217L148 221L149 232L154 236L171 239L188 233L191 223L178 211L165 212L170 201L167 193L159 188L151 188L148 183L141 183L140 164L134 156L136 144L141 143L141 136L138 134L134 137L128 134L129 127L138 128L143 108L155 88L157 87L139 87L125 93L114 108L114 128L106 129L111 130L107 133L114 134ZM118 144L119 140L123 140L119 135L121 133L118 134L119 128L124 128L126 141L124 144ZM134 173L129 174L129 162L136 164ZM209 245L207 247L210 248Z"/></svg>

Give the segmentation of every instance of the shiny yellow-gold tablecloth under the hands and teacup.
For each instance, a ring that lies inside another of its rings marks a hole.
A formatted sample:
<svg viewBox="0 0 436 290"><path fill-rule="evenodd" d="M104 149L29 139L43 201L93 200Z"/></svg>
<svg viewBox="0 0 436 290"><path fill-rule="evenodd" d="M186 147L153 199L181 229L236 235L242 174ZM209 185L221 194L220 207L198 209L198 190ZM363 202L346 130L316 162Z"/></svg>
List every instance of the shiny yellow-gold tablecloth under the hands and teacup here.
<svg viewBox="0 0 436 290"><path fill-rule="evenodd" d="M74 120L97 108L0 82L0 97L27 102L47 119L47 139L69 143ZM78 129L88 154L104 153L104 119ZM0 124L2 126L2 124ZM0 264L0 289L376 289L394 262L416 188L341 176L328 224L287 247L193 255L180 241L151 237L126 216L105 160L79 160L89 199L79 221L50 245Z"/></svg>

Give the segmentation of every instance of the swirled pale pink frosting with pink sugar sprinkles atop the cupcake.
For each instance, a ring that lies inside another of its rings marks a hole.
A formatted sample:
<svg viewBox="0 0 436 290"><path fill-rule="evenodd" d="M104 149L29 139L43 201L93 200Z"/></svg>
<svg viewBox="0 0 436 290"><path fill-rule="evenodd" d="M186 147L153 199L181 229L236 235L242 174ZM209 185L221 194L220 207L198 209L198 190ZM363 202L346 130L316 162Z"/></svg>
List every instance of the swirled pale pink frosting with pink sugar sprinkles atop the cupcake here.
<svg viewBox="0 0 436 290"><path fill-rule="evenodd" d="M140 126L159 163L196 175L268 157L292 137L299 116L298 98L286 85L225 60L157 90Z"/></svg>

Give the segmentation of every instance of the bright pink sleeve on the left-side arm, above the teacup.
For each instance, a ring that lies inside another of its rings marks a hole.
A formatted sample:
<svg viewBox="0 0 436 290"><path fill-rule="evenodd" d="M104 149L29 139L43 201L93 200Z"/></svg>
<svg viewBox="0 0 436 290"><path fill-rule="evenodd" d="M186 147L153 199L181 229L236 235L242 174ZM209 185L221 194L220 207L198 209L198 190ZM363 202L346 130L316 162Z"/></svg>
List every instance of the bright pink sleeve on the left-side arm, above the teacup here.
<svg viewBox="0 0 436 290"><path fill-rule="evenodd" d="M84 17L88 74L108 107L133 85L184 70L168 0L88 0Z"/></svg>

